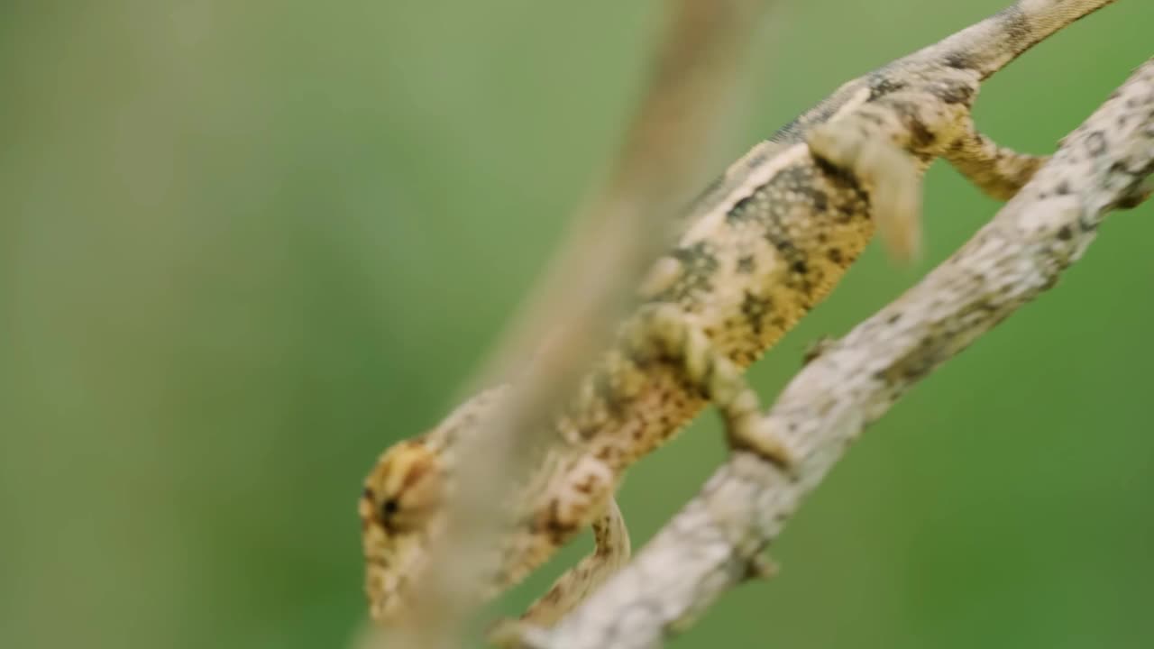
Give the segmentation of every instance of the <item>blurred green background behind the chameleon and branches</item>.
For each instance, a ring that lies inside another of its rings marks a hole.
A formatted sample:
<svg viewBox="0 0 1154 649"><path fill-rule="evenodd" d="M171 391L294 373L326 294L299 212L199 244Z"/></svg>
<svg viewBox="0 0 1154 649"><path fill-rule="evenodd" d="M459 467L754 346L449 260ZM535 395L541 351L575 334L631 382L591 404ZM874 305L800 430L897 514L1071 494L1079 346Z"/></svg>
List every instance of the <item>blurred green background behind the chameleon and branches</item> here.
<svg viewBox="0 0 1154 649"><path fill-rule="evenodd" d="M1004 2L793 2L711 167ZM459 396L549 258L661 6L5 2L0 646L345 646L360 480ZM1123 0L1043 44L981 125L1051 150L1152 53L1152 21ZM927 259L871 247L756 367L765 398L996 207L935 166ZM673 644L1148 647L1152 217L1116 215L915 389L796 516L780 577ZM635 544L722 457L704 417L639 465Z"/></svg>

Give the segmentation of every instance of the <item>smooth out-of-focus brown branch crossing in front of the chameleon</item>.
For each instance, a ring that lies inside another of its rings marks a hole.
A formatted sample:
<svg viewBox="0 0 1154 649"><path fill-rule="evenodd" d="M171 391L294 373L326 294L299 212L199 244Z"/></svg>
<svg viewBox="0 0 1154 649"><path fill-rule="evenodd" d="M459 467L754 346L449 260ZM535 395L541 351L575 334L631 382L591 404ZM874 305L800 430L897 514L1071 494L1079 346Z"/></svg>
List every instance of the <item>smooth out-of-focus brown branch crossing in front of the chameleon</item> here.
<svg viewBox="0 0 1154 649"><path fill-rule="evenodd" d="M414 620L422 647L451 647L493 569L501 503L553 441L542 434L629 305L657 258L672 216L702 177L707 150L734 102L742 53L767 0L668 0L672 14L654 75L607 184L571 223L556 262L484 373L515 378L496 423L470 440L445 543L430 549ZM542 342L546 344L542 346ZM531 361L530 361L531 360Z"/></svg>

